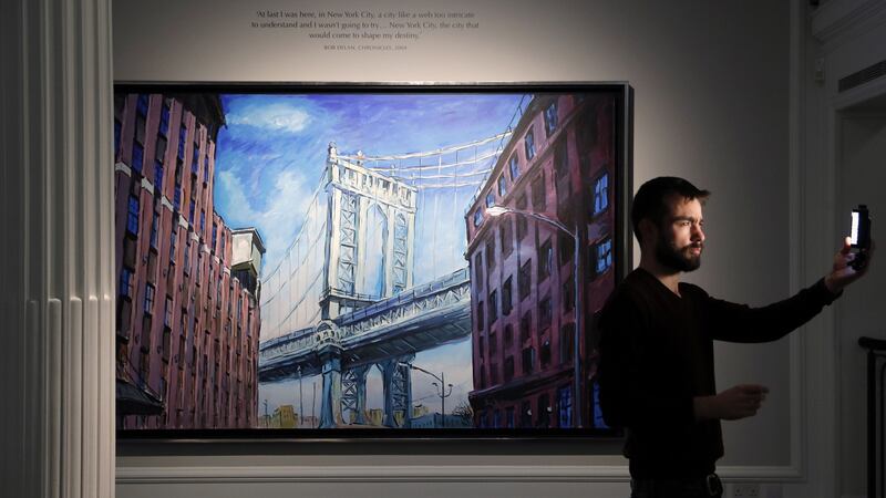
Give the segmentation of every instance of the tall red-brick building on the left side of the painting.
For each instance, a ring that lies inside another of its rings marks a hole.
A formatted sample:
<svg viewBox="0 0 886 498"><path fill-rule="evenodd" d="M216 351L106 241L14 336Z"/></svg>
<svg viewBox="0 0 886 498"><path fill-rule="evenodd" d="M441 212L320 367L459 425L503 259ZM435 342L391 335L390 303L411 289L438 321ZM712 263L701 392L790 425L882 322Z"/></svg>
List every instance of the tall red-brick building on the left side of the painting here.
<svg viewBox="0 0 886 498"><path fill-rule="evenodd" d="M257 424L254 229L213 208L216 95L116 94L117 426Z"/></svg>

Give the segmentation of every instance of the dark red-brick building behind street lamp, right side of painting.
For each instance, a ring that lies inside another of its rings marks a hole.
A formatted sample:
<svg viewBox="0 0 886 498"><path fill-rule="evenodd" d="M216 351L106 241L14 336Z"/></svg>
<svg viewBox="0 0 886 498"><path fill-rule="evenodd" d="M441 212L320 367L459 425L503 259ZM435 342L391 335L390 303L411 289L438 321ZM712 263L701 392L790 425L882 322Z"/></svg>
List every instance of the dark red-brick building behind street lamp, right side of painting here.
<svg viewBox="0 0 886 498"><path fill-rule="evenodd" d="M594 322L615 284L614 126L611 95L536 95L465 216L475 426L577 425L576 288L580 422L601 424ZM526 214L577 228L578 264L570 235Z"/></svg>

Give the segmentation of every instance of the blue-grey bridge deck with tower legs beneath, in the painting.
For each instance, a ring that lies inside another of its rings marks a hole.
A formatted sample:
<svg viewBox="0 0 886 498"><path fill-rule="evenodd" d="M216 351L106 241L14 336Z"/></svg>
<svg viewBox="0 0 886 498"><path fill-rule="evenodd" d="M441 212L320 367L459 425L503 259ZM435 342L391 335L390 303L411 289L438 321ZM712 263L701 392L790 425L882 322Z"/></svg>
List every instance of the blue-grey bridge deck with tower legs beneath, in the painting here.
<svg viewBox="0 0 886 498"><path fill-rule="evenodd" d="M415 353L471 335L471 281L467 268L316 326L259 345L258 380L272 383L323 375L320 427L343 424L341 409L363 423L367 371L379 365L384 377L388 426L395 411L409 413L408 364Z"/></svg>

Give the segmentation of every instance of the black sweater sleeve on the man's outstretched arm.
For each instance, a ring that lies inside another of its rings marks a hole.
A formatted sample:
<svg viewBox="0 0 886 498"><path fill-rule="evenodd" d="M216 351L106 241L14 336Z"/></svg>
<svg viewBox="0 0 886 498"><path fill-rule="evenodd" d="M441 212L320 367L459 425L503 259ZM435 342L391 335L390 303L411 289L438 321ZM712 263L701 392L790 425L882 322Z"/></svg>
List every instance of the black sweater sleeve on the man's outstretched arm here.
<svg viewBox="0 0 886 498"><path fill-rule="evenodd" d="M704 293L700 288L697 291ZM772 304L751 308L703 294L704 315L711 339L729 342L769 342L787 335L818 314L839 294L832 294L824 279L795 295Z"/></svg>

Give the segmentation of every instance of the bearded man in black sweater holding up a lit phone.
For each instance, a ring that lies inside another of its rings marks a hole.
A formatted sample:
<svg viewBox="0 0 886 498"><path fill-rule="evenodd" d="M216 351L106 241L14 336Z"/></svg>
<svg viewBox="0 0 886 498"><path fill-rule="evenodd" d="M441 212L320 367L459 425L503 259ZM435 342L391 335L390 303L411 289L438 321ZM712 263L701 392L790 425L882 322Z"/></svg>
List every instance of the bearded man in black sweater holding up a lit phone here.
<svg viewBox="0 0 886 498"><path fill-rule="evenodd" d="M719 497L720 421L753 416L762 385L714 387L713 340L774 341L802 325L862 277L848 241L832 271L796 295L764 308L711 298L680 282L701 264L707 190L682 178L643 184L631 208L640 266L616 289L600 318L600 405L626 430L633 498ZM868 253L867 263L870 261Z"/></svg>

